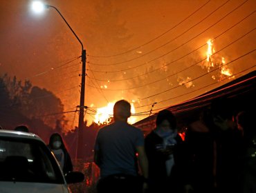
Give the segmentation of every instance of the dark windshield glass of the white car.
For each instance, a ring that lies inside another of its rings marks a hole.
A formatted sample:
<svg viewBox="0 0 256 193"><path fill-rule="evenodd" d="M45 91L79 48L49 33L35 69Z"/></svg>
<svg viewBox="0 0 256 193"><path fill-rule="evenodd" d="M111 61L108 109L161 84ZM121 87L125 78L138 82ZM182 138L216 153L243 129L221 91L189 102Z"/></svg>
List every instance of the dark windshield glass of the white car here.
<svg viewBox="0 0 256 193"><path fill-rule="evenodd" d="M42 141L0 136L0 181L64 183L51 151Z"/></svg>

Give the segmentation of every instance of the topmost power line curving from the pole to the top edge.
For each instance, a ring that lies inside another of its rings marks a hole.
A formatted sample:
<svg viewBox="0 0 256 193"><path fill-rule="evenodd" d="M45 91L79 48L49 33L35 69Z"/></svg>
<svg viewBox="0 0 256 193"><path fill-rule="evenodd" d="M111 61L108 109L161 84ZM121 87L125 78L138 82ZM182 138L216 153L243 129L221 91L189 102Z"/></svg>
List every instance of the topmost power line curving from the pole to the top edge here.
<svg viewBox="0 0 256 193"><path fill-rule="evenodd" d="M180 21L179 23L177 23L175 26L173 26L172 28L170 28L169 30L163 32L162 34L158 35L157 37L155 37L154 39L151 39L149 41L147 41L146 43L143 43L142 45L138 45L136 48L133 48L131 50L127 50L126 52L121 52L119 54L113 54L113 55L109 55L109 56L93 56L93 55L87 55L89 57L98 57L98 58L107 58L107 57L116 57L122 54L126 54L128 52L134 51L138 48L141 48L149 43L151 43L152 41L155 41L156 39L163 37L164 34L167 34L167 32L170 32L171 30L173 30L174 28L176 28L177 26L179 26L181 23L183 23L185 20L189 19L190 17L192 17L193 14L195 14L196 12L198 12L199 10L201 10L201 8L203 8L204 6L206 6L206 4L208 4L210 1L207 1L206 3L203 4L203 6L199 7L198 9L196 9L194 12L192 12L192 14L188 15L188 17L185 17L185 19L183 19L182 21Z"/></svg>

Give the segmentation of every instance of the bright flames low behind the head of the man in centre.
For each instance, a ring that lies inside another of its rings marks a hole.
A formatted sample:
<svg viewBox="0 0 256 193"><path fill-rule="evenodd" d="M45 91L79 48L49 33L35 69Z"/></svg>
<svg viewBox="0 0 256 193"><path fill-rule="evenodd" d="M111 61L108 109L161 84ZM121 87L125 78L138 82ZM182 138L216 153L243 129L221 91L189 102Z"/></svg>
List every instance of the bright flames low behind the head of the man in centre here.
<svg viewBox="0 0 256 193"><path fill-rule="evenodd" d="M110 102L107 104L107 106L103 108L98 108L97 113L95 114L94 122L100 124L103 123L110 123L111 118L113 118L113 105L115 105L115 102ZM131 103L131 114L135 113L134 103ZM136 122L136 117L131 116L128 119L128 123L132 124Z"/></svg>

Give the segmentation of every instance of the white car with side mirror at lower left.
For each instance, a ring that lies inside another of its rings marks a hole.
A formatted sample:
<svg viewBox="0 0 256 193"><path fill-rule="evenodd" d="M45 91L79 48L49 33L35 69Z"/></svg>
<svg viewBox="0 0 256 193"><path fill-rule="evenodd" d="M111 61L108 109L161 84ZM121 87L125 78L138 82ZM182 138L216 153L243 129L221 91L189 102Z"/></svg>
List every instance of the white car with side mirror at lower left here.
<svg viewBox="0 0 256 193"><path fill-rule="evenodd" d="M68 193L68 183L83 180L81 172L64 176L39 136L0 130L0 192Z"/></svg>

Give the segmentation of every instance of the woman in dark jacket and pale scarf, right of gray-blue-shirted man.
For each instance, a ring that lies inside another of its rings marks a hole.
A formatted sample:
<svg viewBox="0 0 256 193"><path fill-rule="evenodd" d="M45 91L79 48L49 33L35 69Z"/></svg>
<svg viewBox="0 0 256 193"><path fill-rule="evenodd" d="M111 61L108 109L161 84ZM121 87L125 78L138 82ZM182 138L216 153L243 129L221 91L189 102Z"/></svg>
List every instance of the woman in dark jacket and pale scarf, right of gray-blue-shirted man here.
<svg viewBox="0 0 256 193"><path fill-rule="evenodd" d="M177 134L175 116L168 110L159 112L156 129L145 138L149 192L178 192L178 187L181 188L182 143Z"/></svg>

